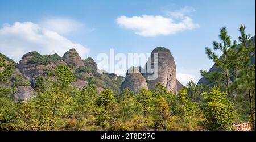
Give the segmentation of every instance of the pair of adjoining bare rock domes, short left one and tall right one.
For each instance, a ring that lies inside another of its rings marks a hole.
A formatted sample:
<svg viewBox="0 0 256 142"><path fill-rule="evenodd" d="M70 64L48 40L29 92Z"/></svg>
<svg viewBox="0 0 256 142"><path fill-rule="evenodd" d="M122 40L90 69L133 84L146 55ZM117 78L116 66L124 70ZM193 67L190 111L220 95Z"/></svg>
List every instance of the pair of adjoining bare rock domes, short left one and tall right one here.
<svg viewBox="0 0 256 142"><path fill-rule="evenodd" d="M154 53L158 54L158 70L156 71L158 77L155 80L150 80L149 76L152 74L148 73L148 70L146 69L147 65L150 65L151 69L154 69ZM172 57L170 50L165 47L157 47L151 52L151 58L147 61L146 69L143 69L142 67L131 67L129 70L131 69L134 70L134 72L126 73L125 81L121 86L121 91L127 87L129 90L136 93L141 87L155 89L156 83L162 83L167 91L172 91L176 94L178 90L184 87L176 79L174 57Z"/></svg>

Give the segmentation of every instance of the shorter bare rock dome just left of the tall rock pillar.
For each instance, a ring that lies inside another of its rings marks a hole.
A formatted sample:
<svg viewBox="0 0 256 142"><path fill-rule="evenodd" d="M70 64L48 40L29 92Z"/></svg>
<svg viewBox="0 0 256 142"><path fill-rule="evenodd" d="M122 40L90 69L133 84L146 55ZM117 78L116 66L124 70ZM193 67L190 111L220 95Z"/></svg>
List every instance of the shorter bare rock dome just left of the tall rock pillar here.
<svg viewBox="0 0 256 142"><path fill-rule="evenodd" d="M133 73L128 72L131 69L134 69ZM139 69L131 67L129 70L127 70L125 81L122 83L121 91L126 87L135 93L137 93L142 87L146 87L146 89L148 89L146 79L139 72Z"/></svg>

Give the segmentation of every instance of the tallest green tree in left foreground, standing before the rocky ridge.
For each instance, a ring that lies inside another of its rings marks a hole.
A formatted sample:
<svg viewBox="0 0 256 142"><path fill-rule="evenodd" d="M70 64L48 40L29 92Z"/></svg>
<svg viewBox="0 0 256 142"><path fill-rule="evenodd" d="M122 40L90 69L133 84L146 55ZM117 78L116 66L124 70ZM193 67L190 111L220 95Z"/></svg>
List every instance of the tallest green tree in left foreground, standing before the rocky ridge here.
<svg viewBox="0 0 256 142"><path fill-rule="evenodd" d="M58 130L57 123L68 116L72 97L69 89L74 81L72 70L60 65L53 76L46 81L46 90L38 93L34 108L36 119L40 122L40 130Z"/></svg>

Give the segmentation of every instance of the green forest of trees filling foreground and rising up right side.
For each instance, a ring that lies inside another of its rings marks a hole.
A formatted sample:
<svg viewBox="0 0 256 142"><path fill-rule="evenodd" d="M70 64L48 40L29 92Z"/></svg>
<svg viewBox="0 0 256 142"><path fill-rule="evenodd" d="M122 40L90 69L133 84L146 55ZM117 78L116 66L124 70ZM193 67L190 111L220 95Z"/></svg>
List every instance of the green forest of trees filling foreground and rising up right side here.
<svg viewBox="0 0 256 142"><path fill-rule="evenodd" d="M15 86L5 85L10 83L15 62L1 55L0 130L216 131L234 130L235 124L244 122L251 122L255 130L255 58L251 60L255 44L245 29L241 26L240 36L232 41L226 27L221 28L220 40L205 48L217 71L200 71L210 83L196 85L191 80L177 94L160 82L155 89L142 88L138 93L129 89L121 94L110 89L98 92L93 82L79 89L71 85L76 80L71 68L59 65L47 78L38 78L36 97L17 101ZM59 58L40 60L44 64Z"/></svg>

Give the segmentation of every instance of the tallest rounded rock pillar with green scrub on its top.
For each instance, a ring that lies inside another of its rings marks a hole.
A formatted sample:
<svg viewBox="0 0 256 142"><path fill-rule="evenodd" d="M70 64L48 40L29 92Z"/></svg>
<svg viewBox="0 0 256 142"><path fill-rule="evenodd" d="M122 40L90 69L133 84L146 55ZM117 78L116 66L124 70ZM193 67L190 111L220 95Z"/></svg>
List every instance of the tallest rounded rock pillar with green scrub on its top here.
<svg viewBox="0 0 256 142"><path fill-rule="evenodd" d="M158 77L155 80L150 80L148 76L151 74L146 73L147 76L147 84L149 89L154 89L156 83L160 82L166 86L167 91L172 91L173 93L177 93L177 81L176 81L176 65L174 62L174 57L172 57L169 49L164 47L157 47L151 53L151 62L148 60L146 64L151 65L151 69L154 69L154 61L153 55L154 53L158 53ZM150 64L151 63L151 64Z"/></svg>

